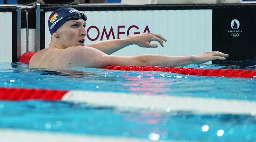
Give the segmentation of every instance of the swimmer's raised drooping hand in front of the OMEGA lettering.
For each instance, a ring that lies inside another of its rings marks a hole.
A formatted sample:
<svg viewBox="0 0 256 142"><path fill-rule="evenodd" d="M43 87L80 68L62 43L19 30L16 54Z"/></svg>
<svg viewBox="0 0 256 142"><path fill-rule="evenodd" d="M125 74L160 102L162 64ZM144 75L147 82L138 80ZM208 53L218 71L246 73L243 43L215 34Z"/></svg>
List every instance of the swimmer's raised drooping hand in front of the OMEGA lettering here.
<svg viewBox="0 0 256 142"><path fill-rule="evenodd" d="M140 47L146 48L157 48L157 44L150 43L151 41L157 41L160 43L162 47L164 47L164 41L167 41L162 35L160 34L153 34L153 33L142 33L142 34L135 34L129 35L132 39L132 43L136 44Z"/></svg>

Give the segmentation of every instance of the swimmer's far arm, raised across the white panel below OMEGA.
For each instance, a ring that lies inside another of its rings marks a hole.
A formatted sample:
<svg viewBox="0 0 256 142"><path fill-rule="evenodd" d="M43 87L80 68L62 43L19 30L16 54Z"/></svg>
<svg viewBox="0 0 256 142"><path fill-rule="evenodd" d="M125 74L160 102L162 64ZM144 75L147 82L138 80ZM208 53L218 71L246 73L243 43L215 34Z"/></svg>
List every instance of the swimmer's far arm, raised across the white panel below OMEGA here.
<svg viewBox="0 0 256 142"><path fill-rule="evenodd" d="M108 40L108 41L99 41L91 44L87 44L85 46L96 48L108 55L123 49L129 45L138 45L140 47L145 48L157 48L157 44L151 44L151 41L158 41L159 44L164 47L164 41L167 41L162 35L160 34L153 34L153 33L142 33L142 34L135 34L129 35L127 37L116 39L116 40Z"/></svg>

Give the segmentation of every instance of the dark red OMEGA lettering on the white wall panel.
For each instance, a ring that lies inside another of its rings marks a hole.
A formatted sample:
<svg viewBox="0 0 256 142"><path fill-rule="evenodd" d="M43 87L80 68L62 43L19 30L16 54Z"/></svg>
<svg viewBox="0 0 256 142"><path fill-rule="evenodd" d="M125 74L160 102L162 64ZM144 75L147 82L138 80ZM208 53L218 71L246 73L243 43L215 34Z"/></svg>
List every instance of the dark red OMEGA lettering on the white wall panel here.
<svg viewBox="0 0 256 142"><path fill-rule="evenodd" d="M112 26L111 26L109 31L106 30L105 26L103 27L102 31L100 31L97 26L89 26L88 29L87 29L87 33L88 33L87 34L87 38L90 41L96 41L100 37L100 41L102 41L104 35L107 37L107 39L109 39L110 36L112 36L113 39L116 39L116 37L117 37L117 39L119 39L121 34L127 34L127 36L130 35L130 34L140 34L140 32L130 33L130 30L132 28L140 30L140 27L138 27L136 25L129 26L128 28L126 28L126 26L117 26L117 33L114 33L114 30L113 30ZM97 36L95 38L94 37L90 37L90 35L89 35L89 31L91 29L95 29L97 31ZM142 29L143 29L143 33L146 33L146 32L150 33L148 25L145 28L142 28Z"/></svg>

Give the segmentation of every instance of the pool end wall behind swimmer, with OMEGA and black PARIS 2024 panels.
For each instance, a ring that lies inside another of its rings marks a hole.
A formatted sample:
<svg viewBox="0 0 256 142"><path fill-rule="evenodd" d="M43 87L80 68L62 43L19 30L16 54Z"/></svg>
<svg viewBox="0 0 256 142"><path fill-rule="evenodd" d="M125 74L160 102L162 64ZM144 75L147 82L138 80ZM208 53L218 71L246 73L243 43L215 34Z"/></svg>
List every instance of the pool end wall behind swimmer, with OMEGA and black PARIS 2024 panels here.
<svg viewBox="0 0 256 142"><path fill-rule="evenodd" d="M164 43L164 48L147 49L131 45L114 55L187 56L204 51L221 51L229 54L228 60L242 61L256 57L255 6L256 4L81 4L70 7L84 12L88 17L88 35L85 37L85 43L117 39L143 32L161 34L168 39ZM21 55L26 52L27 27L29 51L39 51L49 46L51 34L48 30L48 17L52 11L60 7L62 6L37 4L34 7L21 8ZM25 10L28 12L28 25ZM0 21L0 24L4 25L4 21ZM12 25L12 28L5 30L13 28ZM17 38L10 35L2 40L14 41ZM0 62L17 61L20 56L14 50L19 50L17 45L12 45L12 53L10 48L3 46L0 51L0 54L3 54Z"/></svg>

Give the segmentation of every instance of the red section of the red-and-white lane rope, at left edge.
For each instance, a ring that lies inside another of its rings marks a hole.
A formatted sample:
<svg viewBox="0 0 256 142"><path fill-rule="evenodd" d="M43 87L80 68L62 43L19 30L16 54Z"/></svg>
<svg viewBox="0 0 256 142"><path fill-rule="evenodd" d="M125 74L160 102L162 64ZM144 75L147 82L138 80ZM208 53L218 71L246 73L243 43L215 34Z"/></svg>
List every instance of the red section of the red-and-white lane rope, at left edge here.
<svg viewBox="0 0 256 142"><path fill-rule="evenodd" d="M23 88L1 88L0 100L51 100L58 101L68 91L49 90L49 89L23 89Z"/></svg>

